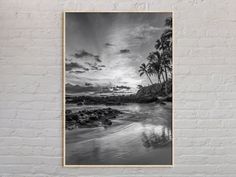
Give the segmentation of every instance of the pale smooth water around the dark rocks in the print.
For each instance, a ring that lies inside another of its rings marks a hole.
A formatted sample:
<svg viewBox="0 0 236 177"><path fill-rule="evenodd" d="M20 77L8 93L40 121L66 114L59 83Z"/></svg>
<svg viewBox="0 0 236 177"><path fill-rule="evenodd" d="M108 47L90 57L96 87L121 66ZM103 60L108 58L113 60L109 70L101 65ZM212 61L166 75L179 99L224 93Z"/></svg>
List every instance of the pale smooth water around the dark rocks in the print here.
<svg viewBox="0 0 236 177"><path fill-rule="evenodd" d="M67 105L72 111L104 107ZM171 103L108 107L124 112L112 126L66 131L67 165L171 165ZM169 141L159 146L163 134Z"/></svg>

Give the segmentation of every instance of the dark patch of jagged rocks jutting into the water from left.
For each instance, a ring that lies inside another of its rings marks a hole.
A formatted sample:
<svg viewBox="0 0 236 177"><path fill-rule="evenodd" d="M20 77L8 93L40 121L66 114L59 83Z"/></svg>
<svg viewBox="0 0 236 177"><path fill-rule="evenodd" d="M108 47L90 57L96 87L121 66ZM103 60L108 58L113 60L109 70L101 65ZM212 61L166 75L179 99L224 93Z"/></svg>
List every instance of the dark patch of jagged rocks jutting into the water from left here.
<svg viewBox="0 0 236 177"><path fill-rule="evenodd" d="M76 127L111 126L112 119L115 119L119 114L122 114L122 112L112 108L82 110L73 113L67 110L66 129L72 130Z"/></svg>

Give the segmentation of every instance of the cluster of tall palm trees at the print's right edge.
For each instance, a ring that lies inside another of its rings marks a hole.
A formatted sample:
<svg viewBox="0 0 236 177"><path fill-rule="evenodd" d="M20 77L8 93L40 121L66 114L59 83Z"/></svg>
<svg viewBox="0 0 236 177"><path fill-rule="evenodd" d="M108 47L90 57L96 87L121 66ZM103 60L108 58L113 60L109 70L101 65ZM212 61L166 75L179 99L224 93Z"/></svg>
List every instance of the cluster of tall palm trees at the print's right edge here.
<svg viewBox="0 0 236 177"><path fill-rule="evenodd" d="M155 51L147 57L147 64L140 66L140 76L147 75L151 84L150 76L156 76L158 82L165 87L165 94L168 95L168 81L172 79L172 18L165 21L166 30L156 41Z"/></svg>

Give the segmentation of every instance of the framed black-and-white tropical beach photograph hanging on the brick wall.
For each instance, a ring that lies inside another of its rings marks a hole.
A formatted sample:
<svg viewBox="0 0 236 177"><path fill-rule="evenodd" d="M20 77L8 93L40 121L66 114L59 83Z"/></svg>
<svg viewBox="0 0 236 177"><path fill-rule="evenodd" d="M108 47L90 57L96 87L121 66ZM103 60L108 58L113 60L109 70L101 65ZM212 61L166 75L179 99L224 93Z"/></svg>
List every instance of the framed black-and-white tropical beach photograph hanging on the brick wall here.
<svg viewBox="0 0 236 177"><path fill-rule="evenodd" d="M64 166L173 166L172 21L64 12Z"/></svg>

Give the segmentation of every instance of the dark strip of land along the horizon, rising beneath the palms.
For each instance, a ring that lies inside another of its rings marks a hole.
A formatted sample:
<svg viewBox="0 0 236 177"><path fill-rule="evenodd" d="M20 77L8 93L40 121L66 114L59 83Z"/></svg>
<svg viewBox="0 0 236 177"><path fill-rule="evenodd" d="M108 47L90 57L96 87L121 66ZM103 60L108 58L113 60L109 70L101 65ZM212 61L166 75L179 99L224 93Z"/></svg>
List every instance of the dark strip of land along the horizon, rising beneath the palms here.
<svg viewBox="0 0 236 177"><path fill-rule="evenodd" d="M165 89L166 87L166 89ZM166 93L167 91L167 93ZM136 94L116 96L66 96L67 104L81 105L125 105L127 103L160 103L172 101L172 80L166 85L152 84L141 87Z"/></svg>

